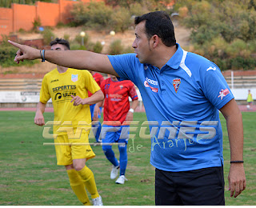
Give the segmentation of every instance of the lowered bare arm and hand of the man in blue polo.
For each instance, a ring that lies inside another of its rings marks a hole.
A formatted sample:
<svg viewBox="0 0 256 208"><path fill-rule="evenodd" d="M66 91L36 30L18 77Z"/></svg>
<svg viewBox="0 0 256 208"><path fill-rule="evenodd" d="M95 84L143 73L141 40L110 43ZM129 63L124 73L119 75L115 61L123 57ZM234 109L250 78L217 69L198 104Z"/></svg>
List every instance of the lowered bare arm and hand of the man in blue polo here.
<svg viewBox="0 0 256 208"><path fill-rule="evenodd" d="M243 160L243 127L242 114L237 103L232 99L220 109L226 118L226 126L230 140L230 161ZM243 163L230 164L228 176L230 197L236 198L246 189L246 174Z"/></svg>

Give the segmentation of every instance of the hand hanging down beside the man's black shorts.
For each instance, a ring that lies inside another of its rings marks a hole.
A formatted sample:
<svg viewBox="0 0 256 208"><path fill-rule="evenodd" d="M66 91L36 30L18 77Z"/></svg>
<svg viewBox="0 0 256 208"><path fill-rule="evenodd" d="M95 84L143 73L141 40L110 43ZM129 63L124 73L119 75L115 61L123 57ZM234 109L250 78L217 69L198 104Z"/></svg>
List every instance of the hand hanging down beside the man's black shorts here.
<svg viewBox="0 0 256 208"><path fill-rule="evenodd" d="M230 197L236 198L246 189L246 174L242 163L230 164L230 174L228 176Z"/></svg>

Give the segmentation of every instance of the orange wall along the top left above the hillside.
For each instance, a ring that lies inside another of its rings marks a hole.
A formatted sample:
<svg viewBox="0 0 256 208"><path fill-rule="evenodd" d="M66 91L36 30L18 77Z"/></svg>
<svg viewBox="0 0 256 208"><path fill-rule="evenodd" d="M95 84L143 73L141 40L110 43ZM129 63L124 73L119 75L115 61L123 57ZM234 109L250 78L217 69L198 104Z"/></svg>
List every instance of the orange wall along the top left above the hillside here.
<svg viewBox="0 0 256 208"><path fill-rule="evenodd" d="M82 0L84 3L103 0ZM42 26L56 26L58 22L68 23L72 19L70 10L78 2L58 0L58 3L36 2L35 5L13 3L11 8L0 7L0 41L2 35L9 35L20 29L31 30L35 19L40 18Z"/></svg>

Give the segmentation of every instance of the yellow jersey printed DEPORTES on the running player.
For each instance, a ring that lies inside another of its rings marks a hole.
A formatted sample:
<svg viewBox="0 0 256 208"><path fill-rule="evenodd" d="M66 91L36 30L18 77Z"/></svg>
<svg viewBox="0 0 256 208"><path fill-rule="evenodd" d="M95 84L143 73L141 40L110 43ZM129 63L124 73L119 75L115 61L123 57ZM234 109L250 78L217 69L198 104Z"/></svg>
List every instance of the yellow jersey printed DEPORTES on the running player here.
<svg viewBox="0 0 256 208"><path fill-rule="evenodd" d="M88 70L68 68L65 73L60 74L56 68L42 79L40 102L46 104L51 98L54 106L54 121L60 121L62 127L72 126L75 129L81 121L90 124L90 105L73 106L73 102L70 102L71 94L88 98L88 90L92 94L100 90ZM63 122L65 126L62 125ZM61 126L54 126L54 134ZM58 134L66 134L66 132L58 132Z"/></svg>

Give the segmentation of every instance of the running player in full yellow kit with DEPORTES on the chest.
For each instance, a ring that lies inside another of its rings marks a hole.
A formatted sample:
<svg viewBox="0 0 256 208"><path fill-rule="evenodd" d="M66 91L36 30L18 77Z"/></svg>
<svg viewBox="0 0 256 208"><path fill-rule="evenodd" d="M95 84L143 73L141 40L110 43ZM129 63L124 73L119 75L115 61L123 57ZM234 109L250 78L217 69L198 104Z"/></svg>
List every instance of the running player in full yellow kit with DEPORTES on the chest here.
<svg viewBox="0 0 256 208"><path fill-rule="evenodd" d="M51 50L70 50L70 44L64 39L56 38L50 42ZM88 97L88 90L92 93ZM40 102L38 102L34 123L38 126L45 124L43 112L46 103L52 99L54 106L54 121L61 121L61 124L72 125L74 134L78 129L79 122L90 124L90 104L103 100L104 95L97 82L87 70L74 70L62 66L50 71L42 80L40 92ZM74 194L84 205L90 205L90 200L86 194L86 189L90 192L94 206L102 206L102 198L94 180L93 172L86 166L86 160L94 158L95 154L90 145L87 130L82 130L79 137L70 138L67 131L58 130L62 126L54 126L55 150L57 164L66 166L67 174L70 178L70 186ZM73 135L74 135L73 134ZM75 134L76 135L76 134ZM70 146L58 143L69 143ZM76 144L77 143L77 144ZM83 143L83 144L78 144Z"/></svg>

